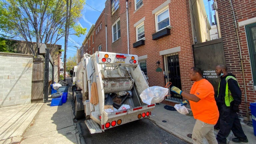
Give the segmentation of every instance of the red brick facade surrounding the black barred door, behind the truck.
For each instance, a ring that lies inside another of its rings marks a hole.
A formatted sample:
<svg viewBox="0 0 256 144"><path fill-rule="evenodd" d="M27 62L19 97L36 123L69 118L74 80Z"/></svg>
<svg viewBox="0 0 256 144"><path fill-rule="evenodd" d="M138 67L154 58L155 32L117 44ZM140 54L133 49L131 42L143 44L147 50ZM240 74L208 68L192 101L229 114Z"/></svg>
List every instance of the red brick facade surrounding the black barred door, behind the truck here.
<svg viewBox="0 0 256 144"><path fill-rule="evenodd" d="M152 11L160 6L166 0L159 0L152 4L152 1L143 1L143 6L134 10L134 1L130 0L129 5L129 33L130 33L130 53L138 56L147 55L147 72L149 86L165 86L163 72L156 72L156 62L160 61L160 68L163 71L164 61L163 56L159 54L162 50L180 47L179 54L180 74L182 90L189 92L192 82L188 78L188 70L194 66L193 51L192 51L192 28L189 13L188 1L171 0L168 4L171 35L165 36L158 40L152 40L152 34L156 32L155 15ZM136 28L134 24L145 17L145 45L133 48L133 43L136 42Z"/></svg>

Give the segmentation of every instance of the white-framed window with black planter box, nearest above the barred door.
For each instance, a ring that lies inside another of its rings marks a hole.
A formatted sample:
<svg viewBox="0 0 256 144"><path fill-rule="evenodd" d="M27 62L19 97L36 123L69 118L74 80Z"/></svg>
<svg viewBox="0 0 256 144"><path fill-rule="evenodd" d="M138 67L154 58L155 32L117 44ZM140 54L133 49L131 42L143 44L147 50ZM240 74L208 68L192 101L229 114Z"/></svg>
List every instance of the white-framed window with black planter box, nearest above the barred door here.
<svg viewBox="0 0 256 144"><path fill-rule="evenodd" d="M167 8L164 11L158 13L156 15L156 21L157 21L157 31L170 26L169 9Z"/></svg>

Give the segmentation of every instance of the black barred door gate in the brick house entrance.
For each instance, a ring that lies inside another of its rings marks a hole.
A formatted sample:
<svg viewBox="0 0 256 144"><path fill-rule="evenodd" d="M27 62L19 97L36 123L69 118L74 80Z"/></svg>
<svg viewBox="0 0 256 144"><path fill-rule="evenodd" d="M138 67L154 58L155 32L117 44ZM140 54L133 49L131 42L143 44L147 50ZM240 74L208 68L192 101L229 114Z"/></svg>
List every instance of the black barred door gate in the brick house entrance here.
<svg viewBox="0 0 256 144"><path fill-rule="evenodd" d="M169 54L164 56L165 63L165 82L171 82L169 87L169 96L166 99L182 101L182 96L170 91L172 86L176 86L181 89L180 80L180 64L178 53Z"/></svg>

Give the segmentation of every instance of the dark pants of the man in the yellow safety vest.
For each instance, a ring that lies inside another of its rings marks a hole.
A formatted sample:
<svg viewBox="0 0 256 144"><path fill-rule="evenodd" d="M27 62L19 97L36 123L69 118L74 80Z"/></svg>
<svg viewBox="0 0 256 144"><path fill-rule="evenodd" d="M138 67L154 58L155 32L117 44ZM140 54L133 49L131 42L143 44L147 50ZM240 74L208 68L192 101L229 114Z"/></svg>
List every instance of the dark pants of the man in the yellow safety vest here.
<svg viewBox="0 0 256 144"><path fill-rule="evenodd" d="M227 107L223 104L220 109L220 131L217 134L217 140L219 142L226 143L226 138L231 130L235 137L246 137L237 113L232 110L232 106Z"/></svg>

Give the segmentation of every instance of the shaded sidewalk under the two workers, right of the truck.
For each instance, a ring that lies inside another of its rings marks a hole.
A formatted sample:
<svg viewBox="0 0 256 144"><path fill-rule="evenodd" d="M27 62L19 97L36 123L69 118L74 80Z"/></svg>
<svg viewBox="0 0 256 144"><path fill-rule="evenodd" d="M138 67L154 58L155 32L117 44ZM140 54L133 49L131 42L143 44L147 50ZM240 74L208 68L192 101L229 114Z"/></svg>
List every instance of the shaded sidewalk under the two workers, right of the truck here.
<svg viewBox="0 0 256 144"><path fill-rule="evenodd" d="M163 128L164 130L170 132L171 134L183 139L189 143L192 143L192 139L187 137L187 134L192 133L193 127L195 124L195 119L193 116L186 116L178 113L177 111L170 111L164 108L165 104L160 103L156 105L155 109L151 113L150 119L155 122L156 125ZM248 138L248 143L239 143L239 144L255 144L256 136L253 134L253 127L250 127L244 123L241 123L244 133ZM215 135L218 131L214 130ZM227 138L228 144L238 144L231 141L234 137L231 132ZM204 140L204 143L207 144L207 140Z"/></svg>

